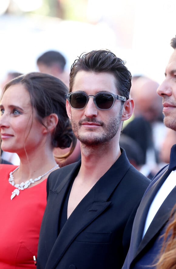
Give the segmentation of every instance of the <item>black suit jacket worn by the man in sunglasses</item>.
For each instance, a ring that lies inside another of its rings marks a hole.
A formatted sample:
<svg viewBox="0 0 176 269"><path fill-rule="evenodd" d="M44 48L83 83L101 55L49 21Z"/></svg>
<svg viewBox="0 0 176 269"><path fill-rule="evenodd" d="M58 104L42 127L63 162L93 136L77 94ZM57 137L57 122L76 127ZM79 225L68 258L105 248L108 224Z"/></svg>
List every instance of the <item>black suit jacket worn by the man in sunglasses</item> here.
<svg viewBox="0 0 176 269"><path fill-rule="evenodd" d="M59 216L81 161L50 174L37 254L39 269L117 269L129 248L134 216L150 180L127 160L124 150L66 221Z"/></svg>

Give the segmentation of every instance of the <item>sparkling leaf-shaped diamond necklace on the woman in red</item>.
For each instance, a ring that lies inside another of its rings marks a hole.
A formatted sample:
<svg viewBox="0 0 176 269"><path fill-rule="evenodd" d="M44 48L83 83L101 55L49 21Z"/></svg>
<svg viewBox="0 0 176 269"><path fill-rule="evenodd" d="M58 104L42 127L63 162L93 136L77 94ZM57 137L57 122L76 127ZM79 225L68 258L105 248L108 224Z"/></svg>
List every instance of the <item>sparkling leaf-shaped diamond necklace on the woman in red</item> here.
<svg viewBox="0 0 176 269"><path fill-rule="evenodd" d="M19 191L23 191L24 189L27 189L29 187L30 184L35 183L36 181L40 180L42 177L46 176L49 172L51 172L52 170L56 169L57 167L59 167L59 164L57 164L56 166L52 167L50 170L48 170L45 174L43 174L42 176L39 176L38 178L32 179L30 178L29 180L22 182L20 184L15 184L14 182L14 177L13 177L13 173L19 168L16 167L15 170L13 170L12 172L9 173L9 179L8 182L14 186L16 189L14 191L12 191L12 195L11 195L11 200L17 195L19 195Z"/></svg>

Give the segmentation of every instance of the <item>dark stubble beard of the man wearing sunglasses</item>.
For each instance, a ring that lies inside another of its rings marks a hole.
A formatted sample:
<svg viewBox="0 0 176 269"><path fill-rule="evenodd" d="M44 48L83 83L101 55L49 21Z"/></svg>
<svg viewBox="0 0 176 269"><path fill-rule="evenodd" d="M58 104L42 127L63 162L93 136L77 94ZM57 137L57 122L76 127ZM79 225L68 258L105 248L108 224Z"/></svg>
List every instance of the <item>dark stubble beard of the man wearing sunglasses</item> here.
<svg viewBox="0 0 176 269"><path fill-rule="evenodd" d="M109 142L119 130L119 126L122 118L123 106L121 106L120 112L116 118L110 119L110 122L105 124L102 121L97 121L96 118L85 118L78 123L73 120L71 117L72 129L76 138L86 146L97 146L102 143ZM93 129L90 129L89 134L80 134L79 129L83 122L96 122L102 126L102 133L96 134L93 132Z"/></svg>

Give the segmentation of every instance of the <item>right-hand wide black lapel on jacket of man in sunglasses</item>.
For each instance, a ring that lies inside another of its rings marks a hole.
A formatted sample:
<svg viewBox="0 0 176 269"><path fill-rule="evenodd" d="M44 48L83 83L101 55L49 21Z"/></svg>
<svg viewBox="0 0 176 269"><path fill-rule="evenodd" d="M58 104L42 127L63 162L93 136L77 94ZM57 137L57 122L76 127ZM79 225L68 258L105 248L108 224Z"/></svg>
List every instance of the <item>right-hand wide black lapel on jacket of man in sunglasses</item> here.
<svg viewBox="0 0 176 269"><path fill-rule="evenodd" d="M78 236L83 229L93 222L93 220L110 205L111 202L107 201L107 199L110 197L130 167L129 161L124 158L124 156L121 160L119 160L119 162L123 162L123 166L118 165L117 168L117 164L113 164L110 170L108 170L99 179L99 181L97 181L70 215L69 219L63 226L63 229L59 233L59 236L57 239L55 238L56 242L54 243L49 255L46 268L55 268L76 236Z"/></svg>

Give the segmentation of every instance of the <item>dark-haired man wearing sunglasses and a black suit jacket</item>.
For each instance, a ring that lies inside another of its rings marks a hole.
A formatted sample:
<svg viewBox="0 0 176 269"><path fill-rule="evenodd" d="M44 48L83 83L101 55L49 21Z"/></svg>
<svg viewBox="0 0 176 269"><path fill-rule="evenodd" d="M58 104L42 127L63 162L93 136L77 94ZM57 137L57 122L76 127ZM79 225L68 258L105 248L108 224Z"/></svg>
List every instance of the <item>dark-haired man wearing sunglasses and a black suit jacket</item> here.
<svg viewBox="0 0 176 269"><path fill-rule="evenodd" d="M150 181L119 147L130 118L131 74L109 50L81 55L72 65L67 114L81 143L81 161L47 181L37 268L121 268L133 219Z"/></svg>

